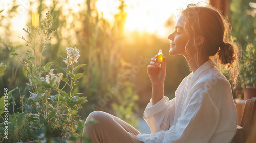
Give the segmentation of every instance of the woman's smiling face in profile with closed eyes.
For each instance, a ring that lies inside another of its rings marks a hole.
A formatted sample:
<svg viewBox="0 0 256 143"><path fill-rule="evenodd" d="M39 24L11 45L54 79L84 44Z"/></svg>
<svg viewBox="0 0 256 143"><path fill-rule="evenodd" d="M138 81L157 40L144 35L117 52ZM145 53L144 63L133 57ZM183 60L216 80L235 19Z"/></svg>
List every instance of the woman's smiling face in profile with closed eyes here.
<svg viewBox="0 0 256 143"><path fill-rule="evenodd" d="M184 14L180 16L178 19L175 31L168 36L170 39L170 55L184 55L186 57L185 46L188 42L188 36L185 33L184 26L185 26L185 19L186 17Z"/></svg>

